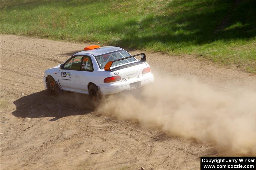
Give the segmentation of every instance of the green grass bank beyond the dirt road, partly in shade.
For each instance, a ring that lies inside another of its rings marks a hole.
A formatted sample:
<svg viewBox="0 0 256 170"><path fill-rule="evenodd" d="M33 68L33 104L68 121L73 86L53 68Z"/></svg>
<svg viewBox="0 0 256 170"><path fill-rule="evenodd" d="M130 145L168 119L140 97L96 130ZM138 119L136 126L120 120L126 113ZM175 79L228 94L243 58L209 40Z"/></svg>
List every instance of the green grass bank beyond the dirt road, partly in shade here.
<svg viewBox="0 0 256 170"><path fill-rule="evenodd" d="M0 34L193 55L255 73L255 0L0 2Z"/></svg>

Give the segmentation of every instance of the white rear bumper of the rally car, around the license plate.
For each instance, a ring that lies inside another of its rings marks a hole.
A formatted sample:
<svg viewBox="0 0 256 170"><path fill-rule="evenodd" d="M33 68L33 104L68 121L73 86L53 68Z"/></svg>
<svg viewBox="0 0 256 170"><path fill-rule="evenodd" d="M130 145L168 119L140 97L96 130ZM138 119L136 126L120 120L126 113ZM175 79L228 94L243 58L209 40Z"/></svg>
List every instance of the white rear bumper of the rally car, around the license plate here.
<svg viewBox="0 0 256 170"><path fill-rule="evenodd" d="M103 95L114 94L114 93L119 93L125 90L133 90L133 89L130 89L130 84L134 82L139 82L139 88L140 88L144 85L154 82L154 76L153 74L149 73L147 75L142 76L141 78L135 78L132 80L128 80L126 82L122 81L122 82L117 82L112 84L98 85L98 87L100 88L101 93Z"/></svg>

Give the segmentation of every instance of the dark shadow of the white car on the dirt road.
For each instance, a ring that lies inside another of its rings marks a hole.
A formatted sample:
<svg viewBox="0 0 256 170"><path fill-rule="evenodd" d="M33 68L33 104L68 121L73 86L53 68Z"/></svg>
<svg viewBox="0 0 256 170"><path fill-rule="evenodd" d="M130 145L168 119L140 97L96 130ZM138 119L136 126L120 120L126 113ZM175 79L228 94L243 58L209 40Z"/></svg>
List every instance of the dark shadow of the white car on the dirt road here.
<svg viewBox="0 0 256 170"><path fill-rule="evenodd" d="M89 97L83 94L65 92L57 97L47 90L33 93L13 102L16 110L12 114L19 118L54 117L56 121L71 115L85 115L94 111L95 106Z"/></svg>

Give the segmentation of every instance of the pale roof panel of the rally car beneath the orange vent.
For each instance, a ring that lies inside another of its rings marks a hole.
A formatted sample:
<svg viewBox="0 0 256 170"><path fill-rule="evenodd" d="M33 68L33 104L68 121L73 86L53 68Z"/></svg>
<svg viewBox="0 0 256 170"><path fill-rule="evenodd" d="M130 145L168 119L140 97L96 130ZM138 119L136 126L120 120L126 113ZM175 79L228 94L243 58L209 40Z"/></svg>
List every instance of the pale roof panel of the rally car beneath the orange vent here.
<svg viewBox="0 0 256 170"><path fill-rule="evenodd" d="M91 54L91 55L94 55L94 56L98 56L98 55L106 54L106 53L109 53L109 52L114 52L114 51L117 51L117 50L121 50L121 48L120 47L114 47L114 46L104 46L104 47L101 47L99 49L80 51L80 52L78 52L74 55Z"/></svg>

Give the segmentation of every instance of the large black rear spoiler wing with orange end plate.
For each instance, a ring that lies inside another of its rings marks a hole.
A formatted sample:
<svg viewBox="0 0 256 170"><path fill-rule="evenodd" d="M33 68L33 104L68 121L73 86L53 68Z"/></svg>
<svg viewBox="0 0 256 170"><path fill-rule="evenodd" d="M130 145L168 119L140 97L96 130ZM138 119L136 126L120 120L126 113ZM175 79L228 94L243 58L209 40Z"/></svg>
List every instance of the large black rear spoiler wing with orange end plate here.
<svg viewBox="0 0 256 170"><path fill-rule="evenodd" d="M115 67L115 68L113 68L113 69L110 69L110 67L112 66L112 64L113 64L114 62L116 62L116 61L121 61L121 60L125 60L125 59L127 59L127 58L133 58L133 57L136 57L136 56L138 56L138 55L141 55L140 61L137 61L137 62L135 62L135 63L127 63L127 64L125 64L125 65L122 65L122 66L119 66L119 67ZM118 60L109 61L109 62L105 65L104 70L106 70L106 71L115 71L115 70L120 70L120 69L122 69L122 68L126 68L126 67L131 67L131 66L134 66L134 65L138 65L138 64L143 64L143 63L145 63L145 62L146 62L146 55L145 55L145 53L140 53L140 54L132 55L132 56L125 57L125 58L120 58L120 59L118 59Z"/></svg>

